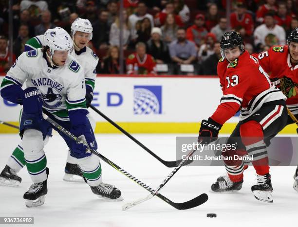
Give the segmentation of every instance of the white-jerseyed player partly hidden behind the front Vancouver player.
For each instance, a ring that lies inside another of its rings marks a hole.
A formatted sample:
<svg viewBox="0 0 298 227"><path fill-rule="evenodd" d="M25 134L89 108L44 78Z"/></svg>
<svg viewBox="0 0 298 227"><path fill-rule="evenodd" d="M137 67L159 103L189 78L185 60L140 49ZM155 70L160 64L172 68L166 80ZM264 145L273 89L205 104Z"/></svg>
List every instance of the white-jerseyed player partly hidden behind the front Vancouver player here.
<svg viewBox="0 0 298 227"><path fill-rule="evenodd" d="M74 41L75 51L71 54L75 57L78 63L82 66L85 75L86 83L86 105L88 107L93 100L93 89L96 78L96 66L98 64L98 57L96 54L86 45L92 39L93 28L88 19L76 18L71 26L71 36ZM42 48L45 46L44 35L37 35L27 41L25 45L25 52ZM95 129L95 122L90 114L88 114L89 121L91 122L93 129ZM46 137L46 142L49 140L52 131ZM45 142L45 143L46 143ZM20 142L13 151L12 155L8 158L5 168L0 174L0 185L5 186L18 186L21 182L21 178L17 173L26 164L23 145ZM68 151L67 162L65 165L65 175L63 180L73 182L84 182L82 178L82 172L77 165L76 158L70 155Z"/></svg>

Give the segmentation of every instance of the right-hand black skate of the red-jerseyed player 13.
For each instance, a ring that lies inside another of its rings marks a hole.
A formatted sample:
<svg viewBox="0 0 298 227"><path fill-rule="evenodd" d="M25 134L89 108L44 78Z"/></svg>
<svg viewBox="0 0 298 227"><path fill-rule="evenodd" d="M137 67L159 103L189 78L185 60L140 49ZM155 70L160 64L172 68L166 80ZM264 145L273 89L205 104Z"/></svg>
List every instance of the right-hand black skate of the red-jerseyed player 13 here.
<svg viewBox="0 0 298 227"><path fill-rule="evenodd" d="M254 193L256 199L267 203L273 203L271 195L273 192L271 175L257 175L257 185L251 186L251 191Z"/></svg>

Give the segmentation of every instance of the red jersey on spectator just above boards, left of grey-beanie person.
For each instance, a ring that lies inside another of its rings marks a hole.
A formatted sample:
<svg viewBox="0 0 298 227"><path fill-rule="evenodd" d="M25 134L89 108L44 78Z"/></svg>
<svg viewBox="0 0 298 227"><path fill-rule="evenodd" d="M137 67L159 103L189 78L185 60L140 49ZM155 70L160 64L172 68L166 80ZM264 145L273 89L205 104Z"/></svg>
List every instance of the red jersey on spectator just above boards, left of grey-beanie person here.
<svg viewBox="0 0 298 227"><path fill-rule="evenodd" d="M126 60L128 74L156 74L156 62L150 54L145 54L141 61L136 53L132 53Z"/></svg>

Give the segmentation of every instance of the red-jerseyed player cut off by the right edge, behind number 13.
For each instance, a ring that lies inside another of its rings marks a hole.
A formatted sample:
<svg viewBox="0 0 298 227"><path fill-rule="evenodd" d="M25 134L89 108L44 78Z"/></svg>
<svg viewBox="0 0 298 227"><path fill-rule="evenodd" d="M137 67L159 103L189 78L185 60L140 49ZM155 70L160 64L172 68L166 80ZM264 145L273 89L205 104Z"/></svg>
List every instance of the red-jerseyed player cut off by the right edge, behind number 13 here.
<svg viewBox="0 0 298 227"><path fill-rule="evenodd" d="M280 87L287 97L287 107L298 118L298 28L289 34L287 41L288 45L274 46L266 52L253 55L258 58L261 67L270 73L272 84ZM292 123L294 122L289 116L287 124ZM294 174L293 187L298 191L298 167Z"/></svg>

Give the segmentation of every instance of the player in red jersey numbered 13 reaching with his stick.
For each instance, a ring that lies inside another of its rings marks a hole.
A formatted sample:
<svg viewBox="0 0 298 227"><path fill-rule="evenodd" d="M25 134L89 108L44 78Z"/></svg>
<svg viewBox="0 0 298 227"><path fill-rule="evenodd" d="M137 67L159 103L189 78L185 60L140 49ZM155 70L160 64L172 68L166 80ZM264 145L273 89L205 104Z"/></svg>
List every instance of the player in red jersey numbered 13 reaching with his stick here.
<svg viewBox="0 0 298 227"><path fill-rule="evenodd" d="M212 184L214 192L240 190L243 183L244 164L251 160L257 172L257 184L251 190L264 202L273 202L271 176L265 139L277 134L286 124L286 97L271 86L267 73L258 60L244 49L239 32L225 32L221 40L220 59L217 67L223 90L221 104L208 120L203 120L198 140L209 143L217 139L224 122L240 109L240 122L227 144L236 150L223 152L223 157L245 156L246 160L227 160L227 175Z"/></svg>

